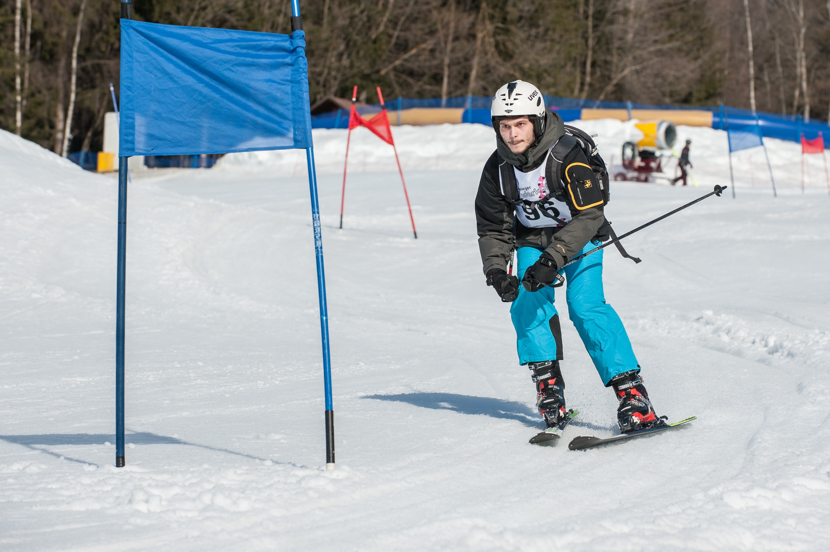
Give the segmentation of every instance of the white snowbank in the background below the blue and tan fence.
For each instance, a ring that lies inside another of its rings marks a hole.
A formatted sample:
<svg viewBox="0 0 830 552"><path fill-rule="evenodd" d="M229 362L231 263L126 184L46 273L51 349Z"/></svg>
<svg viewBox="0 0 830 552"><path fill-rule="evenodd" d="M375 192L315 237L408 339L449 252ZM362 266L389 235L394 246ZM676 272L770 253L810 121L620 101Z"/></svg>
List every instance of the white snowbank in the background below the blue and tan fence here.
<svg viewBox="0 0 830 552"><path fill-rule="evenodd" d="M619 164L626 129L623 121L580 120L569 122L598 134L595 138L606 163ZM495 134L486 125L431 125L393 127L392 133L404 170L481 170L481 165L496 149ZM676 150L679 153L689 138L693 173L698 183L706 186L729 185L729 149L726 133L697 126L677 127ZM345 129L315 129L315 157L319 174L342 174L346 151ZM801 186L801 146L779 139L764 139L769 151L776 186ZM827 188L823 159L818 155L806 158L806 187ZM736 152L732 158L735 185L739 188L771 190L769 169L764 149ZM676 173L676 160L666 159L666 173ZM283 150L228 154L217 164L218 170L269 172L298 176L306 174L305 151ZM349 173L376 173L397 170L393 149L369 130L359 127L352 131L349 144ZM679 174L679 173L677 173ZM663 182L665 183L665 182Z"/></svg>

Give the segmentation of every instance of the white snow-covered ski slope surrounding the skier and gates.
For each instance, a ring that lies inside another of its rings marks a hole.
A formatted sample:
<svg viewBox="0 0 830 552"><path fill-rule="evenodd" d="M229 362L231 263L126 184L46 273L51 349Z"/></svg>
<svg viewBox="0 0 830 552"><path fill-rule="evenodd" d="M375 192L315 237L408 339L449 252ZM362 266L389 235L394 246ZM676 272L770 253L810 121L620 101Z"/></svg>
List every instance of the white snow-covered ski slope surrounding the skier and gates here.
<svg viewBox="0 0 830 552"><path fill-rule="evenodd" d="M623 124L578 125L618 155ZM613 183L618 233L729 183L725 134L679 130L701 188ZM391 148L359 133L354 151L383 170L349 174L337 230L345 133L315 131L330 167L338 467L325 471L295 153L134 175L115 468L115 178L0 131L0 550L828 550L830 198L800 194L798 144L768 140L778 199L736 163L737 200L627 238L639 265L604 252L657 413L698 419L570 452L570 437L617 432L616 400L560 294L581 414L556 447L527 443L535 393L508 306L484 286L472 212L491 129L393 132L417 242L383 168ZM436 149L439 135L453 145Z"/></svg>

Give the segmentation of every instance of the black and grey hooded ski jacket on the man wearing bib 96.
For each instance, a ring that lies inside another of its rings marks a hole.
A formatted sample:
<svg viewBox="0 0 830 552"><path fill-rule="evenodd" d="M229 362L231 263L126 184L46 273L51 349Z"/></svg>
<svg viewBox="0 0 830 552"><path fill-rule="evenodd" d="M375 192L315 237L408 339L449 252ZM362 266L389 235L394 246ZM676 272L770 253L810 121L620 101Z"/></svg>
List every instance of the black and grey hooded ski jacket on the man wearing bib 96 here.
<svg viewBox="0 0 830 552"><path fill-rule="evenodd" d="M544 163L543 156L539 164ZM565 156L562 167L573 163L588 164L583 151L574 147ZM523 168L533 170L535 167ZM525 171L526 172L526 171ZM558 175L559 178L562 175ZM568 194L565 194L567 198ZM610 225L605 222L603 207L579 210L574 208L568 198L572 220L564 227L525 227L515 218L515 206L501 194L499 183L499 158L493 152L487 159L481 172L481 181L476 194L476 225L478 230L478 247L484 273L492 268L507 270L510 252L513 248L513 225L516 224L515 246L535 247L549 252L556 261L556 266L563 266L574 258L589 241L606 241Z"/></svg>

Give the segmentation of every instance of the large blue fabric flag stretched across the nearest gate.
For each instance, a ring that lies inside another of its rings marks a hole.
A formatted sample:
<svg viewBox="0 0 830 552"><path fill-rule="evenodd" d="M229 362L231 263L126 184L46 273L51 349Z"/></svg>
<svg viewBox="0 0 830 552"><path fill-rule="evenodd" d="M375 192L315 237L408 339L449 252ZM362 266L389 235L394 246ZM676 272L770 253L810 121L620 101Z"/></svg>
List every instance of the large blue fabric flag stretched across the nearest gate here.
<svg viewBox="0 0 830 552"><path fill-rule="evenodd" d="M305 33L121 19L119 156L305 149Z"/></svg>

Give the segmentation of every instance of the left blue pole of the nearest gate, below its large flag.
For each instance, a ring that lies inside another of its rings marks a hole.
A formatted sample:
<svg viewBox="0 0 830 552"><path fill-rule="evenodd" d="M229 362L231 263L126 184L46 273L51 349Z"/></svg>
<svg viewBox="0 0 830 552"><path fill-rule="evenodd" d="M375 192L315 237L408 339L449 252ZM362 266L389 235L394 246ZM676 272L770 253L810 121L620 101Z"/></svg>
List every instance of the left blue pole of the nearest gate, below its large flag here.
<svg viewBox="0 0 830 552"><path fill-rule="evenodd" d="M115 291L115 467L124 467L124 297L127 276L127 162L118 158L118 271Z"/></svg>

